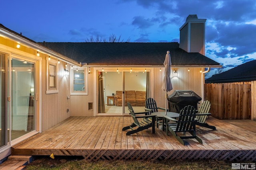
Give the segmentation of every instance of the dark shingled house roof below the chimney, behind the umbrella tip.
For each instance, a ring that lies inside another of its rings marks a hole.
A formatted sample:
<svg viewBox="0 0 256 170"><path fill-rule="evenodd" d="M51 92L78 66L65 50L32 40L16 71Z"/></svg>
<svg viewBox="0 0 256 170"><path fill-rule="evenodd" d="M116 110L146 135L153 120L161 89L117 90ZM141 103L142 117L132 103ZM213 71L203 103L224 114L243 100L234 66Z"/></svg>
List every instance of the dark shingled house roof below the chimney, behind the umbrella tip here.
<svg viewBox="0 0 256 170"><path fill-rule="evenodd" d="M162 66L170 51L172 66L218 66L201 55L188 53L179 43L40 43L75 61L87 65Z"/></svg>

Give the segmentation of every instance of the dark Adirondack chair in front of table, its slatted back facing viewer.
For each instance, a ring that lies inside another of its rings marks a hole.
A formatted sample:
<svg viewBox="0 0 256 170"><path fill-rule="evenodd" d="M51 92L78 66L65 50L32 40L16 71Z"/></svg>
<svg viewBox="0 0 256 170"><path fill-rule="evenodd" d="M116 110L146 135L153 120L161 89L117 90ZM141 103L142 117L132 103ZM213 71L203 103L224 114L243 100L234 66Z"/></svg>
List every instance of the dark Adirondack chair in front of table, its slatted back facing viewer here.
<svg viewBox="0 0 256 170"><path fill-rule="evenodd" d="M166 124L166 135L168 135L168 131L172 133L172 135L182 144L184 144L183 139L196 139L199 143L203 143L202 139L196 136L196 109L193 106L185 106L180 111L180 116L178 119L173 119L164 115L164 121ZM191 135L185 135L186 132L189 132ZM178 135L179 133L183 133L183 135Z"/></svg>

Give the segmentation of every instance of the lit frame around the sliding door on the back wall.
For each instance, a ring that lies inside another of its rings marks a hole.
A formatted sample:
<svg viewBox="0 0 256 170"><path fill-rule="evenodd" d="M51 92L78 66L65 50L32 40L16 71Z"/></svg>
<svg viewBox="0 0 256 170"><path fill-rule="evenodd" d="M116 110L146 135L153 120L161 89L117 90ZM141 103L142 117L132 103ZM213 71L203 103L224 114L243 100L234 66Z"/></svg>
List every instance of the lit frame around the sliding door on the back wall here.
<svg viewBox="0 0 256 170"><path fill-rule="evenodd" d="M119 70L119 72L122 72L122 90L124 91L125 90L125 77L124 77L124 72L130 72L130 69L131 67L108 67L108 68L104 68L104 71L111 71L111 72L116 72L117 71L117 68ZM98 113L98 78L97 78L97 75L98 75L98 71L102 71L102 67L94 67L94 71L93 71L93 74L94 74L94 84L96 86L94 86L94 116L98 116L98 115L102 115L102 116L105 116L105 115L112 115L112 114L106 114L106 113ZM132 67L132 71L139 71L139 72L144 72L145 71L145 67ZM147 67L146 68L146 71L147 72L150 72L150 80L149 80L149 96L150 97L154 97L153 94L153 89L154 89L154 68L153 67ZM124 93L122 94L122 98L124 98ZM113 115L117 115L117 114L113 114ZM118 114L119 116L120 115L129 115L128 113L125 113L125 106L124 106L124 100L122 100L122 113Z"/></svg>

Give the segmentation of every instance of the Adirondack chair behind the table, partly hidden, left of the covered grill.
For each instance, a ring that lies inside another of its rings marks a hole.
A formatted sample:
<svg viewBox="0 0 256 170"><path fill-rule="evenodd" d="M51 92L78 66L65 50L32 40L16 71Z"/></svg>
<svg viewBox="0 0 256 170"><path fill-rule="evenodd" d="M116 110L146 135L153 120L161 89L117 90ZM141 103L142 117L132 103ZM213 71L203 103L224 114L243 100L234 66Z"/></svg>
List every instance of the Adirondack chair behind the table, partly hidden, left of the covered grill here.
<svg viewBox="0 0 256 170"><path fill-rule="evenodd" d="M165 111L165 108L156 106L156 101L153 98L148 98L146 100L146 105L144 109L145 111L148 111L150 115L151 113L157 112L158 109ZM167 109L167 111L169 111L169 109ZM156 117L156 127L158 127L158 124L162 124L160 121L163 121L162 118Z"/></svg>

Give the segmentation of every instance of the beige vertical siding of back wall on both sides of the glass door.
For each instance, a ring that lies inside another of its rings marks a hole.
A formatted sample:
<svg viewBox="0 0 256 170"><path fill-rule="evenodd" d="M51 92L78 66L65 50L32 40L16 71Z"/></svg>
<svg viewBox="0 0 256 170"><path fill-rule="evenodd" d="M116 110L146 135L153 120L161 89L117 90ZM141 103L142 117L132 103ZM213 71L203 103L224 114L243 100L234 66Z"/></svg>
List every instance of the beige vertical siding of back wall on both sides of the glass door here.
<svg viewBox="0 0 256 170"><path fill-rule="evenodd" d="M162 80L164 78L164 67L153 68L151 74L153 74L153 80L151 80L151 97L156 100L158 107L165 107L165 92L162 90ZM88 110L88 103L94 102L94 68L90 68L91 73L88 74L88 95L71 95L70 96L70 115L71 116L94 116L97 112L97 108L93 108L93 111ZM172 68L172 71L174 68ZM168 96L174 92L174 90L193 90L196 94L202 97L202 78L200 68L175 68L178 70L178 77L173 77L171 73L171 81L173 90L168 92ZM94 70L96 71L96 70ZM94 105L95 106L95 105Z"/></svg>

